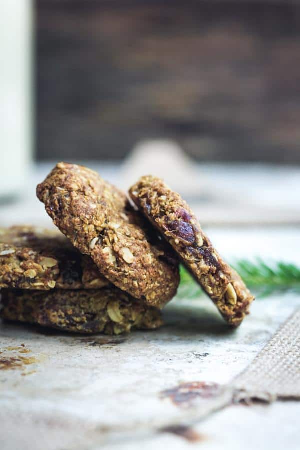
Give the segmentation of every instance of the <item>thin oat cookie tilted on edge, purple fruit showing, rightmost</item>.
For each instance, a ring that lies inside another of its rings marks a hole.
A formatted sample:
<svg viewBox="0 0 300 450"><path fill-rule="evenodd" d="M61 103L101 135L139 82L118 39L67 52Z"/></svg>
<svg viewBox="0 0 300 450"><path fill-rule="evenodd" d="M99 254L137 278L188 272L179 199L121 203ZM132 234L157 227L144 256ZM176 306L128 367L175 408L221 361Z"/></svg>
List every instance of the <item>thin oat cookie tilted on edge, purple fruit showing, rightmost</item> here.
<svg viewBox="0 0 300 450"><path fill-rule="evenodd" d="M236 271L213 248L187 203L153 176L141 177L129 193L176 250L222 316L231 325L239 325L254 297Z"/></svg>

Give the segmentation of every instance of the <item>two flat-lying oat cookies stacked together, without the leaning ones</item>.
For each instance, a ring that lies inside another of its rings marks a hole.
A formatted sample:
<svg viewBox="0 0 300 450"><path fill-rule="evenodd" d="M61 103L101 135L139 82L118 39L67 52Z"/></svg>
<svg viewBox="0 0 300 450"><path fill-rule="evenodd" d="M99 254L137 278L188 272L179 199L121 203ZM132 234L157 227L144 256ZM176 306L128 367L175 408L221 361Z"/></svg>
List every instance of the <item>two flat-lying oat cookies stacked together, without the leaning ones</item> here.
<svg viewBox="0 0 300 450"><path fill-rule="evenodd" d="M161 324L158 308L109 283L59 231L0 228L0 286L6 320L106 334Z"/></svg>

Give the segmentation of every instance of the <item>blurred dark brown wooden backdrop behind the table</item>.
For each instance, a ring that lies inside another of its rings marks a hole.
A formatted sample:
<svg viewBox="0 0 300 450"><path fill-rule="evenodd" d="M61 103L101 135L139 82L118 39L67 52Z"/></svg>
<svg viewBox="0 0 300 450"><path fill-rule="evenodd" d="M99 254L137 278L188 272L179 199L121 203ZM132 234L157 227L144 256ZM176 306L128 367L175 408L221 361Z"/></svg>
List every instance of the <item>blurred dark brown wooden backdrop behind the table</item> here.
<svg viewBox="0 0 300 450"><path fill-rule="evenodd" d="M300 162L300 4L36 1L37 156Z"/></svg>

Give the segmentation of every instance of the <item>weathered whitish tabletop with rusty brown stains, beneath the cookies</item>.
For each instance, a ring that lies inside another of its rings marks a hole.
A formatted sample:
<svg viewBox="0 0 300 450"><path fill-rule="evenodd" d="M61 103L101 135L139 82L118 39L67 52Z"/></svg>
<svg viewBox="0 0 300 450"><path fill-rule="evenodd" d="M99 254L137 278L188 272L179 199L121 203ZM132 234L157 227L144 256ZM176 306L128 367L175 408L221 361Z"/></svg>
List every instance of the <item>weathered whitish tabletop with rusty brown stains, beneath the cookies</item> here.
<svg viewBox="0 0 300 450"><path fill-rule="evenodd" d="M30 214L33 223L39 214L50 223L35 199L5 208L5 225ZM229 261L258 255L300 264L296 227L206 230ZM160 330L117 337L0 323L0 448L296 450L300 403L293 401L231 405L191 428L178 424L196 419L202 382L229 382L299 305L293 294L258 298L235 331L205 296L172 301Z"/></svg>

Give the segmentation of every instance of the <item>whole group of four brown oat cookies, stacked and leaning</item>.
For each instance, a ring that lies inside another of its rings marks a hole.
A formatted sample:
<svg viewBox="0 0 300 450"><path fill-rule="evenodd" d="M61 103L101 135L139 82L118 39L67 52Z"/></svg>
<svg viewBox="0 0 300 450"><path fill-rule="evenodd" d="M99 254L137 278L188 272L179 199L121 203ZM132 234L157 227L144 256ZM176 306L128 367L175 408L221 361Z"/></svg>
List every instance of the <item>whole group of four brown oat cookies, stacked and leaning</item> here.
<svg viewBox="0 0 300 450"><path fill-rule="evenodd" d="M176 293L180 259L238 325L253 296L188 205L152 176L129 193L131 202L94 171L57 164L37 196L66 237L0 229L2 318L83 333L156 328Z"/></svg>

